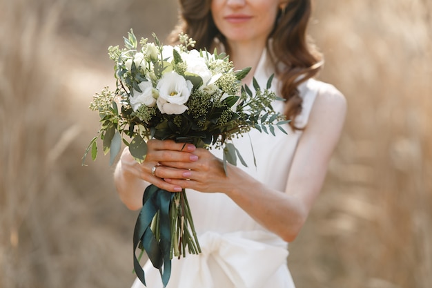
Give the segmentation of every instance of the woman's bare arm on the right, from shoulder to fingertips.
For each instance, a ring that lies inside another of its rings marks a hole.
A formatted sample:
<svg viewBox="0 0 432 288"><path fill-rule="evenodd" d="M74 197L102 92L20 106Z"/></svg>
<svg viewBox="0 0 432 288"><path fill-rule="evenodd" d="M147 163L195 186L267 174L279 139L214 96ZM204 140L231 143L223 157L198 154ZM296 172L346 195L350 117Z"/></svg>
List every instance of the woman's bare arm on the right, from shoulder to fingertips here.
<svg viewBox="0 0 432 288"><path fill-rule="evenodd" d="M293 158L285 193L268 189L247 173L228 165L227 176L218 160L205 149L197 149L193 164L166 162L168 166L190 169L190 180L181 180L164 168L165 181L203 192L226 193L257 222L291 242L299 233L312 204L322 188L328 162L339 140L346 113L346 101L333 86L317 95Z"/></svg>

